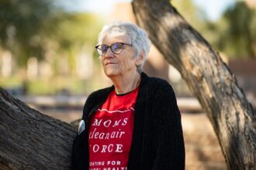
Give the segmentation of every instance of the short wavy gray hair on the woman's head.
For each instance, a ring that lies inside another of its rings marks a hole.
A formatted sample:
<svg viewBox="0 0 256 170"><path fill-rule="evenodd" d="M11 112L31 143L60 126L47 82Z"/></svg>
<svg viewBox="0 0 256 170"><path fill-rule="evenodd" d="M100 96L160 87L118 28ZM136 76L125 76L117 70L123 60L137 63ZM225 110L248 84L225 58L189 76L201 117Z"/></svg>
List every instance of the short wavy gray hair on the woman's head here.
<svg viewBox="0 0 256 170"><path fill-rule="evenodd" d="M139 56L141 52L144 53L143 63L140 66L137 66L138 72L141 73L142 66L147 60L151 46L147 32L130 22L112 22L109 25L103 26L102 31L99 32L98 44L102 44L103 39L110 33L115 33L117 36L128 36L130 43L133 45L136 57Z"/></svg>

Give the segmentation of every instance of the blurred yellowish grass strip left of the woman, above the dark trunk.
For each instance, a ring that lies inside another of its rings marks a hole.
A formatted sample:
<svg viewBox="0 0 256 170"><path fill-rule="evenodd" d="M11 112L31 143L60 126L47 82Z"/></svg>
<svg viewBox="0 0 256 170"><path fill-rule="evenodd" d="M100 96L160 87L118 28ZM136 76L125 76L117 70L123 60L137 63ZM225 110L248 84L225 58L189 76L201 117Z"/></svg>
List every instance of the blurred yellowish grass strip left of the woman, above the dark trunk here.
<svg viewBox="0 0 256 170"><path fill-rule="evenodd" d="M27 94L54 95L65 94L87 94L93 88L92 80L81 80L72 76L57 76L50 79L38 78L35 80L22 80L19 76L0 78L0 87L6 89L24 88Z"/></svg>

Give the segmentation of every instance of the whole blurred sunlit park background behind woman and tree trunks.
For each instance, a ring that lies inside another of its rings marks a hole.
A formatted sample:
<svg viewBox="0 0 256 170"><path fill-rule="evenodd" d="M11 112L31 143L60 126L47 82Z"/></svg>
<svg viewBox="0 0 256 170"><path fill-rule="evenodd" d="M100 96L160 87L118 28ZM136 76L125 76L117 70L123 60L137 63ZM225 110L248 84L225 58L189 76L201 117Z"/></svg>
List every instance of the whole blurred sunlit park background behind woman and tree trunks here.
<svg viewBox="0 0 256 170"><path fill-rule="evenodd" d="M95 53L102 26L135 22L129 0L0 0L0 87L43 114L70 123L86 97L111 85ZM256 1L173 0L220 52L256 107ZM152 46L144 71L178 97L187 169L226 169L213 128L177 70Z"/></svg>

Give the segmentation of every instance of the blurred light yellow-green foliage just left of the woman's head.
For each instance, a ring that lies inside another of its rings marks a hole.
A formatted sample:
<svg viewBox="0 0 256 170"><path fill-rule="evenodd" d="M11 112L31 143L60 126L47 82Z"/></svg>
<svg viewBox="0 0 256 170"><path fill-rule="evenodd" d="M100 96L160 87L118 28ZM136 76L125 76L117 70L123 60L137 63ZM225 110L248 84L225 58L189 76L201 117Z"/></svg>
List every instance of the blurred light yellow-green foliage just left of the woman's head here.
<svg viewBox="0 0 256 170"><path fill-rule="evenodd" d="M76 70L75 58L86 47L92 49L97 41L102 22L99 17L89 13L64 13L61 21L55 25L54 34L50 35L48 44L57 44L55 50L59 53L58 57L67 56L71 73ZM54 49L54 47L50 47ZM61 54L61 55L60 55Z"/></svg>

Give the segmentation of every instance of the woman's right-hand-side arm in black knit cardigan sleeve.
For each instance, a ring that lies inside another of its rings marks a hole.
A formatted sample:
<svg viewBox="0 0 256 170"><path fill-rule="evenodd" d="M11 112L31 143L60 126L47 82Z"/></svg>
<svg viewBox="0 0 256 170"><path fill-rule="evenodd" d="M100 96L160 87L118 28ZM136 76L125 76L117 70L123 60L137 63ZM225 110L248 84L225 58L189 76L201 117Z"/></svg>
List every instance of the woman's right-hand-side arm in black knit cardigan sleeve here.
<svg viewBox="0 0 256 170"><path fill-rule="evenodd" d="M168 83L157 90L154 102L156 158L154 168L185 169L185 146L181 114L175 93Z"/></svg>

